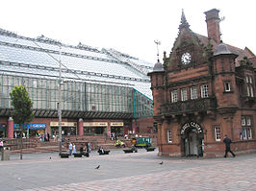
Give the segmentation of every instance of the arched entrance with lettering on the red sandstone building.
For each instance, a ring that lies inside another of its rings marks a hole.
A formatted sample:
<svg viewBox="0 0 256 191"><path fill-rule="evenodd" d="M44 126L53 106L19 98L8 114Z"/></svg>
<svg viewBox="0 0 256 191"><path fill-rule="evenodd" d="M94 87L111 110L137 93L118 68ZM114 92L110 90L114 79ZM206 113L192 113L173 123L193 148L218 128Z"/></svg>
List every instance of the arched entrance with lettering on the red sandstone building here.
<svg viewBox="0 0 256 191"><path fill-rule="evenodd" d="M181 127L181 146L185 156L202 156L204 135L202 127L196 122L188 122Z"/></svg>

